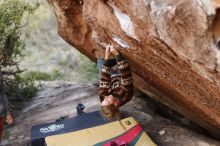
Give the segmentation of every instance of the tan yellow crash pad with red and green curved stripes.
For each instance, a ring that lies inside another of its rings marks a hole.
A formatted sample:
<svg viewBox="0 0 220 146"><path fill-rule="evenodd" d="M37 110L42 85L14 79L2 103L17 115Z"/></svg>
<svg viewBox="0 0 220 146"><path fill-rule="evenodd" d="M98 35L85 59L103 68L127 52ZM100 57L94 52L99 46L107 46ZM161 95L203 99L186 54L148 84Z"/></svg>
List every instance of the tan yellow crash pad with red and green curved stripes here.
<svg viewBox="0 0 220 146"><path fill-rule="evenodd" d="M156 146L133 117L75 132L46 137L47 146L110 146L112 141L129 146Z"/></svg>

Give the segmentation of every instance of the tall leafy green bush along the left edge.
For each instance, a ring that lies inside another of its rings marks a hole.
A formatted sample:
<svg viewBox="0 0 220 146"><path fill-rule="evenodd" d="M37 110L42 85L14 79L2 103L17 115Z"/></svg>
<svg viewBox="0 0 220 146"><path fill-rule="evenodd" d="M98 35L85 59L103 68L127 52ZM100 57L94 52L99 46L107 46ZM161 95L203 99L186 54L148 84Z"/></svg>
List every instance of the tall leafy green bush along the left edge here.
<svg viewBox="0 0 220 146"><path fill-rule="evenodd" d="M23 71L17 60L25 49L22 29L37 7L38 4L31 6L23 0L0 0L0 84L14 110L37 91L33 80L20 77Z"/></svg>

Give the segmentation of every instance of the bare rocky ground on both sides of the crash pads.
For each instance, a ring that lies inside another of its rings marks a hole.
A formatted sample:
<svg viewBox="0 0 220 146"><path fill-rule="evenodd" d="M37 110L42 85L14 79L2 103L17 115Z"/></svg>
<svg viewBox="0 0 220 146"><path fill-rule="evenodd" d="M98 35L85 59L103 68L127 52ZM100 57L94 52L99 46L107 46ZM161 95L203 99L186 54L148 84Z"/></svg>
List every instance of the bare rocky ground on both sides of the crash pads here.
<svg viewBox="0 0 220 146"><path fill-rule="evenodd" d="M86 112L98 110L97 86L64 81L43 82L38 95L25 104L15 125L9 129L10 144L6 145L25 146L30 140L33 125L51 122L60 116L76 116L78 103L85 104ZM220 145L184 117L140 93L136 93L133 100L122 108L122 113L134 116L159 146Z"/></svg>

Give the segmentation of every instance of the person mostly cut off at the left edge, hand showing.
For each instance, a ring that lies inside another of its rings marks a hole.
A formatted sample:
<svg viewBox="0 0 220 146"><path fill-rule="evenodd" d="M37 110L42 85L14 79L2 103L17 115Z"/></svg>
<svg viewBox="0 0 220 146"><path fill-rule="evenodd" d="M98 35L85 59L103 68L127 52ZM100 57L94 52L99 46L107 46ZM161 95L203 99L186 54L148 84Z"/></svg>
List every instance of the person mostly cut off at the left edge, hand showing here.
<svg viewBox="0 0 220 146"><path fill-rule="evenodd" d="M2 75L0 74L1 78L1 86L0 86L0 143L2 139L2 134L4 130L4 119L6 119L6 123L11 125L13 122L13 117L9 112L8 108L8 100L5 94L5 90L3 88L3 83L2 83Z"/></svg>

